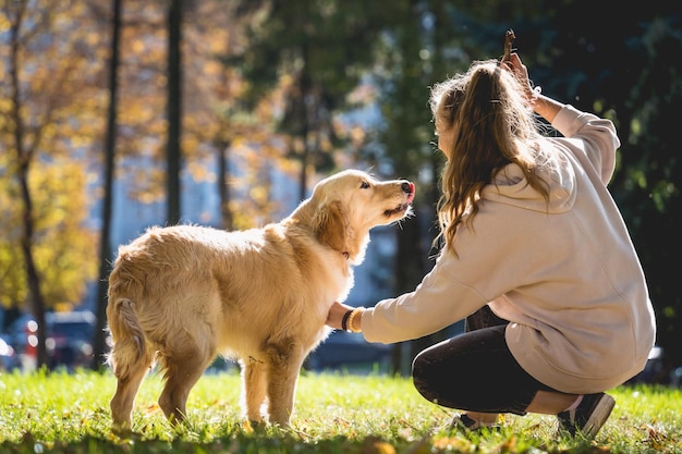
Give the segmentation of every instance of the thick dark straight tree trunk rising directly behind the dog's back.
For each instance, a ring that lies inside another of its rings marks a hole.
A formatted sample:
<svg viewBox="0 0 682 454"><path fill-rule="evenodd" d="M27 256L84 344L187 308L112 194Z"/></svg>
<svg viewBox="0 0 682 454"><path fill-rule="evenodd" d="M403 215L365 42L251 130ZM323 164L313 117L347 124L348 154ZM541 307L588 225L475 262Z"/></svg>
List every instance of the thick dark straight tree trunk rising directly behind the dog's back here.
<svg viewBox="0 0 682 454"><path fill-rule="evenodd" d="M180 222L180 136L182 130L182 0L168 11L168 224Z"/></svg>

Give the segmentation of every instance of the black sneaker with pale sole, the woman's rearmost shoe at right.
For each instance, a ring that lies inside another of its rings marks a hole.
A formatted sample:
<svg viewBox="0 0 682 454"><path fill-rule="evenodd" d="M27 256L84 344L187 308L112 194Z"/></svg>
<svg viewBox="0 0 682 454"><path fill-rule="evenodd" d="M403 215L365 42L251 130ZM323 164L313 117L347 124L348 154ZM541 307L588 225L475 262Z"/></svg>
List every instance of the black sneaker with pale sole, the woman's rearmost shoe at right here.
<svg viewBox="0 0 682 454"><path fill-rule="evenodd" d="M616 401L608 394L585 394L577 408L557 415L559 429L572 435L581 433L585 438L593 438L609 418L614 405Z"/></svg>

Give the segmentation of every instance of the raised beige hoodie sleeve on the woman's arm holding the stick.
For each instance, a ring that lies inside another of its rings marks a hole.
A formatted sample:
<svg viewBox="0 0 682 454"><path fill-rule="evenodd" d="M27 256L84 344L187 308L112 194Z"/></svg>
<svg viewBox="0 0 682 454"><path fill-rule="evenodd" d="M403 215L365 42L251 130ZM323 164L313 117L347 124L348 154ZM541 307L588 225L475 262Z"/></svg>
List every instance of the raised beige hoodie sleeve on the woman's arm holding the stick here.
<svg viewBox="0 0 682 454"><path fill-rule="evenodd" d="M613 123L567 105L555 118L552 126L567 137L570 150L581 161L586 159L593 165L606 186L616 169L616 150L620 147Z"/></svg>

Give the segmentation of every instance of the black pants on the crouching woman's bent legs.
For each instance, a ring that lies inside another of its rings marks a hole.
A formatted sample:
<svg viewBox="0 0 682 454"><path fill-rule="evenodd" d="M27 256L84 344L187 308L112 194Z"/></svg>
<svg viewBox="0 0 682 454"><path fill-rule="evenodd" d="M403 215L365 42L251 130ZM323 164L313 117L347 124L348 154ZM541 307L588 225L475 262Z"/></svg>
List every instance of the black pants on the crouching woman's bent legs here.
<svg viewBox="0 0 682 454"><path fill-rule="evenodd" d="M539 390L553 390L519 366L504 340L508 323L484 306L466 318L464 334L421 352L412 364L417 391L444 407L525 415Z"/></svg>

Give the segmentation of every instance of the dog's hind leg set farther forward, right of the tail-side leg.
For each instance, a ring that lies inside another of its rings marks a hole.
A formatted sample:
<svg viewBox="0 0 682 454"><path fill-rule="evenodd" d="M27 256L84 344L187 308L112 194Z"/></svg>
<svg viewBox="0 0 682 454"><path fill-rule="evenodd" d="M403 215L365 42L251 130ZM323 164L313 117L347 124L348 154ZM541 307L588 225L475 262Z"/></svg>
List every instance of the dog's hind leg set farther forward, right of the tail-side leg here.
<svg viewBox="0 0 682 454"><path fill-rule="evenodd" d="M194 340L183 336L174 347L160 353L159 361L166 370L166 384L159 396L159 406L172 422L185 418L185 405L190 391L202 378L216 356L215 348L197 345Z"/></svg>

